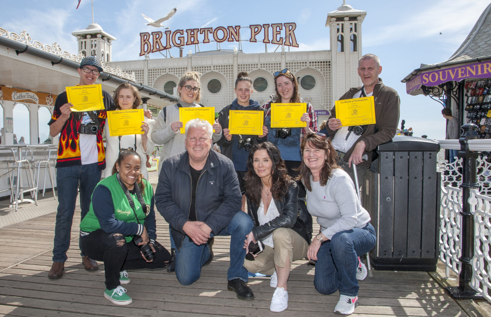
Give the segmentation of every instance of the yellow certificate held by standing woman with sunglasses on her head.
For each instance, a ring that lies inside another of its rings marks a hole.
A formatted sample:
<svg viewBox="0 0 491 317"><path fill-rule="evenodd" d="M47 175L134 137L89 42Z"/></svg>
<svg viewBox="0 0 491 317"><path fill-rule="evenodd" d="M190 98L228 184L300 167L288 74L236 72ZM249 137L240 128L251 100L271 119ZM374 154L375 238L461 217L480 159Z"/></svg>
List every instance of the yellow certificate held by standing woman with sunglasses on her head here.
<svg viewBox="0 0 491 317"><path fill-rule="evenodd" d="M306 111L306 103L271 104L271 128L306 127L307 123L300 120Z"/></svg>

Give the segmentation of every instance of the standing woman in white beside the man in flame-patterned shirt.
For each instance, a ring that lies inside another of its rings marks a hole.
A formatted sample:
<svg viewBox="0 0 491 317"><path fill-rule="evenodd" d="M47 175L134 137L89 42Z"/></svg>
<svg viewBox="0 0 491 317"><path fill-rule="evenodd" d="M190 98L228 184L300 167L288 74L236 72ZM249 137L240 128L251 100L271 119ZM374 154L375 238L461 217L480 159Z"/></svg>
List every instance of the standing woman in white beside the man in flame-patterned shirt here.
<svg viewBox="0 0 491 317"><path fill-rule="evenodd" d="M138 89L129 83L123 83L119 85L114 91L112 97L114 99L114 105L116 110L128 110L136 109L140 106L141 97ZM148 114L147 114L148 115ZM151 117L151 114L149 115ZM119 151L123 148L132 148L138 153L141 158L140 173L143 178L148 180L148 171L146 167L147 155L151 155L154 151L155 144L150 139L149 135L152 131L152 127L155 120L144 117L144 121L141 122L141 131L143 134L131 134L110 136L109 124L104 127L106 133L106 164L107 166L114 165L114 162L118 158ZM112 175L110 167L106 168L102 172L102 178L106 178Z"/></svg>

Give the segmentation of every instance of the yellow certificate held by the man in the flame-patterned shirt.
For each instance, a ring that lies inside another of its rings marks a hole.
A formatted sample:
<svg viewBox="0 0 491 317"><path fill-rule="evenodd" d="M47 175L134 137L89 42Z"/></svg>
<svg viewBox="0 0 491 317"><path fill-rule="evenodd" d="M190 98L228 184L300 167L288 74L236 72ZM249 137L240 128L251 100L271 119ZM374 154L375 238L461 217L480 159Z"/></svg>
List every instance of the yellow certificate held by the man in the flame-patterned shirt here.
<svg viewBox="0 0 491 317"><path fill-rule="evenodd" d="M100 84L66 87L66 98L73 104L72 111L104 110Z"/></svg>

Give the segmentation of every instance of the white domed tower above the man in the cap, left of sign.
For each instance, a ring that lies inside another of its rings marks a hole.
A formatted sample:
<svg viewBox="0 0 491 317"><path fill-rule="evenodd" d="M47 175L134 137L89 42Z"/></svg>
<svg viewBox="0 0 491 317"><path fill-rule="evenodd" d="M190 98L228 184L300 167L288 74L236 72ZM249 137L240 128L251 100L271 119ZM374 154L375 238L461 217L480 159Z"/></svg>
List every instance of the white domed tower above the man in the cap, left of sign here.
<svg viewBox="0 0 491 317"><path fill-rule="evenodd" d="M78 50L84 56L96 56L104 65L111 61L111 41L116 38L105 32L97 23L89 24L86 28L72 32L77 37Z"/></svg>

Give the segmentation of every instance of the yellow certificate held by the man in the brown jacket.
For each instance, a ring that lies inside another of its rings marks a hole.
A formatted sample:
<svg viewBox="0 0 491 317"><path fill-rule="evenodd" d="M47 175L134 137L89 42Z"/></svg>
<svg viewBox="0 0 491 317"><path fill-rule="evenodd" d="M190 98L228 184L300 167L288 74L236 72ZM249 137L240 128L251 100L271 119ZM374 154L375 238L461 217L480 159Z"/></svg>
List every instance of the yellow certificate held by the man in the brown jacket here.
<svg viewBox="0 0 491 317"><path fill-rule="evenodd" d="M336 118L343 127L375 124L373 96L336 101Z"/></svg>

